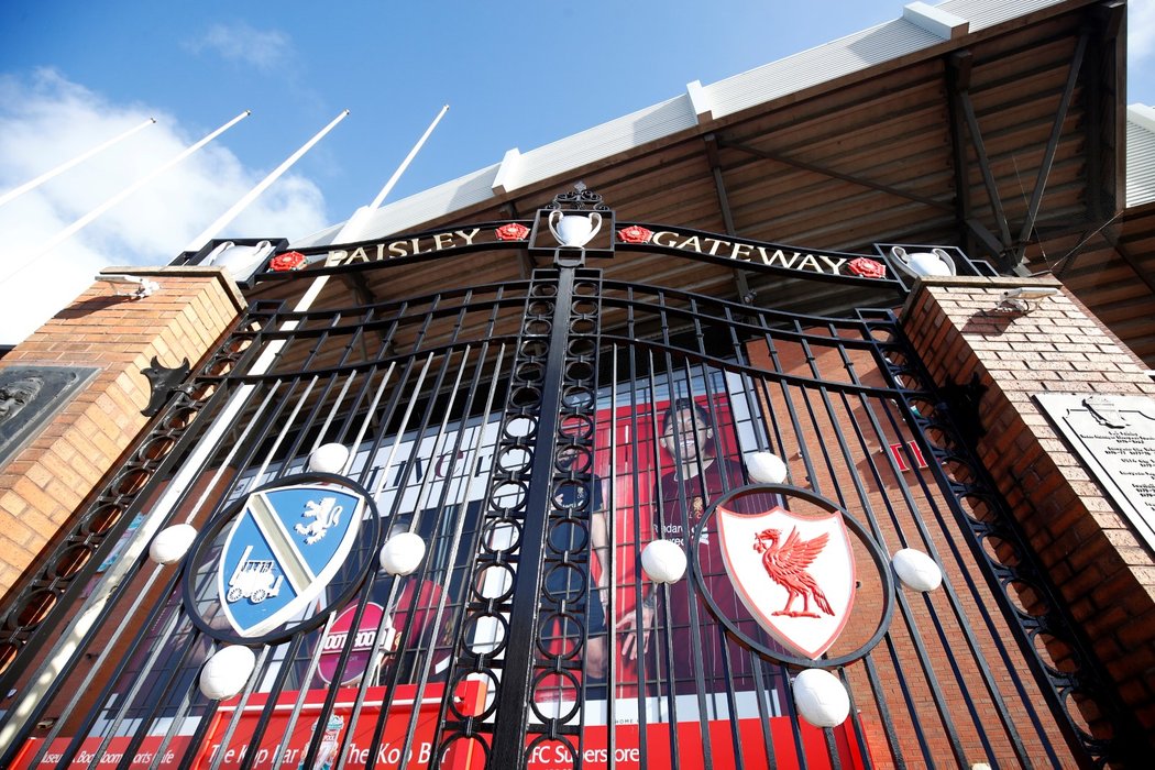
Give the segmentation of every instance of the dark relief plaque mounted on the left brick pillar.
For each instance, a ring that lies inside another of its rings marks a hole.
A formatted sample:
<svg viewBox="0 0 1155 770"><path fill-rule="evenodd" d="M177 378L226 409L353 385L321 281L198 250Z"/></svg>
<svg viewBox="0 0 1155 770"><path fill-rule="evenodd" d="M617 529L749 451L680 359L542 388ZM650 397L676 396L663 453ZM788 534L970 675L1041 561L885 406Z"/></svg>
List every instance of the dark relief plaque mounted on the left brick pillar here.
<svg viewBox="0 0 1155 770"><path fill-rule="evenodd" d="M99 369L9 366L0 369L0 468L31 441Z"/></svg>

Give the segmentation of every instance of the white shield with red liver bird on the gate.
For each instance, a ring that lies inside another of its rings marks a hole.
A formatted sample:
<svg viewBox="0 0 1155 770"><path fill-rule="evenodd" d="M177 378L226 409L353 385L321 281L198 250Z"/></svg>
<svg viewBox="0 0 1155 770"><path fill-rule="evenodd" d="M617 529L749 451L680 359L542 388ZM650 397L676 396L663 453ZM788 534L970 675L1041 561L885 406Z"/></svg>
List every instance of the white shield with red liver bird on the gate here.
<svg viewBox="0 0 1155 770"><path fill-rule="evenodd" d="M855 555L842 516L717 508L726 571L743 604L775 640L817 659L839 638L855 600Z"/></svg>

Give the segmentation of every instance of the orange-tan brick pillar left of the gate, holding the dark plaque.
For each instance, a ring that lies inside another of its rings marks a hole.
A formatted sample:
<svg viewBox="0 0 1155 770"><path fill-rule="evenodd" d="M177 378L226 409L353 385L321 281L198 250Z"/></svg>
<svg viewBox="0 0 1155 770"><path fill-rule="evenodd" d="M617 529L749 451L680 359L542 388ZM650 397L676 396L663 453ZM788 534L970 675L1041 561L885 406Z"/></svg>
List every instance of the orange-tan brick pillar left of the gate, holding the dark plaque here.
<svg viewBox="0 0 1155 770"><path fill-rule="evenodd" d="M97 282L0 360L98 372L0 468L0 596L6 595L148 423L141 369L196 365L238 317L244 300L219 268L107 272L159 284L151 297L117 297ZM126 286L119 287L125 291Z"/></svg>

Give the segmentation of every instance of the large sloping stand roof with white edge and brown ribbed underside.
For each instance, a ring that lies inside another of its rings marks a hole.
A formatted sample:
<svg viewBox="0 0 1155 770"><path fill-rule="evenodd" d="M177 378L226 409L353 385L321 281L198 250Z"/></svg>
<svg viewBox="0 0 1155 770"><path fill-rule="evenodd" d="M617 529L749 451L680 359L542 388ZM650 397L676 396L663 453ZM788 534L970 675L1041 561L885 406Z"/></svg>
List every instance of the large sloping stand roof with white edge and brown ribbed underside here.
<svg viewBox="0 0 1155 770"><path fill-rule="evenodd" d="M795 80L782 87L782 98L763 92L753 100L767 100L750 109L728 104L726 89L735 89L735 98L751 98L739 94L743 88L748 90L759 77L773 85L769 75L781 65L710 87L691 84L678 98L526 154L512 150L498 165L393 203L371 217L373 232L363 237L528 216L581 180L604 195L623 220L677 223L852 253L899 242L959 246L976 259L998 260L1019 252L1028 270L1053 270L1120 338L1155 361L1150 324L1155 284L1149 277L1155 256L1147 256L1155 255L1155 195L1148 188L1152 202L1135 207L1141 199L1132 193L1131 208L1118 210L1124 204L1127 122L1120 119L1125 105L1115 88L1125 76L1116 69L1122 39L1105 38L1104 45L1088 50L1070 110L1056 126L1080 37L1096 29L1105 32L1110 20L1083 0L954 2L930 10L914 5L904 20L787 61L819 61L824 52L850 57L867 45L891 53L902 45L929 46L911 55L897 60L879 55L880 65L863 65L860 73L842 77L827 69L828 82L787 92L803 82ZM973 15L963 18L959 12ZM990 27L999 21L1004 23ZM978 24L986 31L976 32ZM931 43L927 36L939 42ZM970 58L968 94L989 173L979 167L969 132L959 140L964 157L955 152L948 57L960 48ZM811 72L805 77L817 75ZM1101 105L1105 109L1089 109L1095 94L1110 95ZM726 112L736 109L737 113ZM1140 148L1150 147L1141 142L1155 136L1155 121L1146 128L1140 121L1131 129L1134 189L1143 179L1137 163L1155 167L1149 160L1135 160ZM1055 155L1044 169L1045 149L1056 130ZM711 141L706 141L707 134ZM1155 147L1150 149L1155 154ZM1044 195L1037 217L1029 218L1041 178ZM992 197L1000 201L1001 214ZM962 210L969 210L970 227L960 226ZM1007 231L1009 245L997 242L1000 230ZM985 242L982 232L992 233ZM308 245L348 239L337 233L330 229ZM471 282L501 283L524 278L543 263L532 254L511 259L508 252L487 251L435 267L424 261L396 263L387 270L366 269L356 297L345 282L329 282L316 306L419 296L431 282L453 283L463 271ZM619 255L597 267L608 279L626 283L731 299L754 292L759 304L788 312L837 314L862 302L841 286L807 285L803 291L775 276L736 276L730 266L657 254ZM291 282L268 282L254 296L281 299L292 291Z"/></svg>

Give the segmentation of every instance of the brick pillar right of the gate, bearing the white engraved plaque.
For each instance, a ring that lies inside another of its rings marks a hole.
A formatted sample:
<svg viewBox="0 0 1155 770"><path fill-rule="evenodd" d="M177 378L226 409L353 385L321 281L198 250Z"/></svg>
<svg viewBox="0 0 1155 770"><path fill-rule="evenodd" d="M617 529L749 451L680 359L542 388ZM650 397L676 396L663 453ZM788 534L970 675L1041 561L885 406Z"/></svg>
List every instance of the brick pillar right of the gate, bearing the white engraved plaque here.
<svg viewBox="0 0 1155 770"><path fill-rule="evenodd" d="M1155 738L1155 559L1031 399L1045 391L1153 396L1155 383L1067 293L1029 313L994 312L1016 286L1061 289L1055 279L923 281L902 322L937 384L977 374L988 388L979 458L1119 696Z"/></svg>

